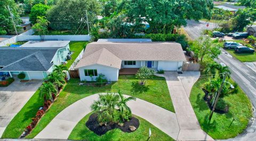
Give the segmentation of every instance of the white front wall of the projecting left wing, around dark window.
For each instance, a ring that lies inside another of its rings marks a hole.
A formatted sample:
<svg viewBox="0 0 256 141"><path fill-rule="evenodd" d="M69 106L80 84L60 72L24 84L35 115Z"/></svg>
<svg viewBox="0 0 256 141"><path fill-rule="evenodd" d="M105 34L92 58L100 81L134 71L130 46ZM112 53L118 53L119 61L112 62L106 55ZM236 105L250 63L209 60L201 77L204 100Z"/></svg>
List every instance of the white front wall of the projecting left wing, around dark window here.
<svg viewBox="0 0 256 141"><path fill-rule="evenodd" d="M119 69L107 67L104 65L94 64L87 67L79 68L79 76L81 81L91 81L90 76L85 76L84 70L86 69L97 69L98 74L102 73L105 75L108 81L117 81L119 75ZM94 80L97 77L93 77Z"/></svg>

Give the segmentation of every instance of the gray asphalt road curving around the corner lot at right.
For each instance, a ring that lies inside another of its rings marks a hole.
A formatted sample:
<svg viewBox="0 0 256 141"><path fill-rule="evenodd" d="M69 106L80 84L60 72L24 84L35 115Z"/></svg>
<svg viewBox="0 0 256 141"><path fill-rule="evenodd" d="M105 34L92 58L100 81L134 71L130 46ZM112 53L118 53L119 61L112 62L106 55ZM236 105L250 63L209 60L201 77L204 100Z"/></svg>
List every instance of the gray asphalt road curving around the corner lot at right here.
<svg viewBox="0 0 256 141"><path fill-rule="evenodd" d="M199 21L188 21L185 30L188 35L197 39L201 32L206 29L205 22ZM213 23L210 23L209 29L213 29ZM256 107L256 73L247 67L242 62L232 57L225 50L222 49L222 54L219 56L217 62L225 63L231 70L231 78L233 78L237 84L244 90L247 96L251 99L254 107ZM255 117L255 112L254 112ZM252 120L250 121L249 127L244 131L243 134L238 135L236 138L228 139L229 141L249 141L256 140L255 132L256 123Z"/></svg>

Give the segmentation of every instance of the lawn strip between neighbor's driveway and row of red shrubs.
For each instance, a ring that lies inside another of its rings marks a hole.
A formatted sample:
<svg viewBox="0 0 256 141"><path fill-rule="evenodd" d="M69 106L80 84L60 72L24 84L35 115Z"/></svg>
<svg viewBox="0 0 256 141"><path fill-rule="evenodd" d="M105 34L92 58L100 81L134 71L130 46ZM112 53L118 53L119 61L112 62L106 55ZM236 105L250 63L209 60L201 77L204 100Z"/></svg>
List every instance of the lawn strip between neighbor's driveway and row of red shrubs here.
<svg viewBox="0 0 256 141"><path fill-rule="evenodd" d="M36 112L43 105L43 102L44 100L39 96L39 90L37 90L6 127L2 138L19 138L24 129L32 121L31 118L35 117Z"/></svg>

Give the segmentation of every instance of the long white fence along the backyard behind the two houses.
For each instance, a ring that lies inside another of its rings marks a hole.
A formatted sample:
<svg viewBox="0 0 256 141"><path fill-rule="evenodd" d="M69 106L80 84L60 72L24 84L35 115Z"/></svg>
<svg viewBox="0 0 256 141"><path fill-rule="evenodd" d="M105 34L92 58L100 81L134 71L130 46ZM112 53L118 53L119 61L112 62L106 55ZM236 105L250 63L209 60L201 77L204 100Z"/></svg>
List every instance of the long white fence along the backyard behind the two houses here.
<svg viewBox="0 0 256 141"><path fill-rule="evenodd" d="M19 41L42 40L39 35L19 35ZM44 35L44 40L71 40L71 41L87 41L91 39L90 35Z"/></svg>

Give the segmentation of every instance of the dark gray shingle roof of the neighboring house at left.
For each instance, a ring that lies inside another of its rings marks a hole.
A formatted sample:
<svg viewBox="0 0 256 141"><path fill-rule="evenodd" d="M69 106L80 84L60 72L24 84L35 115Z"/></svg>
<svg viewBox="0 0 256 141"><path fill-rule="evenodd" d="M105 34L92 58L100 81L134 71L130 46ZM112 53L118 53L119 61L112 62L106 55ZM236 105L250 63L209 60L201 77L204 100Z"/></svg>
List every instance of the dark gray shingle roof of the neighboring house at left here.
<svg viewBox="0 0 256 141"><path fill-rule="evenodd" d="M4 66L0 71L47 71L57 51L58 48L0 48L0 66Z"/></svg>

